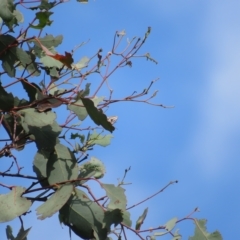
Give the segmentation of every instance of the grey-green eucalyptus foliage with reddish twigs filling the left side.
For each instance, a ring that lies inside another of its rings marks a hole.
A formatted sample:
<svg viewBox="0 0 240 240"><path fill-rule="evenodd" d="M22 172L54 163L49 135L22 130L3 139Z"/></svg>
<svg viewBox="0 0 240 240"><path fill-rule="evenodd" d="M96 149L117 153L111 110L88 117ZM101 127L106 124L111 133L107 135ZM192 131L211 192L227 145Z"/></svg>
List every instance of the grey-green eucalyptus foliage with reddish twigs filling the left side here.
<svg viewBox="0 0 240 240"><path fill-rule="evenodd" d="M122 99L113 99L113 90L108 85L110 76L117 69L132 67L133 57L157 63L149 53L136 55L146 42L151 28L147 29L143 38L128 40L124 50L119 50L119 44L126 33L117 31L111 52L103 56L100 49L94 56L83 56L76 62L76 49L65 51L64 54L58 53L56 48L63 41L62 35L44 36L45 28L52 26L53 9L62 3L63 0L39 0L32 3L24 0L17 3L13 0L0 1L0 125L9 136L8 139L0 139L5 142L5 145L1 146L0 158L13 159L9 168L0 172L0 176L36 181L29 183L26 188L0 183L1 187L9 189L7 194L0 195L0 222L8 222L16 217L21 221L17 237L13 236L11 227L7 227L7 239L27 239L30 228L24 230L22 219L29 214L34 202L44 202L36 209L38 219L43 220L58 212L59 221L83 239L105 240L112 239L111 236L127 239L126 232L132 231L140 239L144 239L143 234L147 232L146 239L153 240L169 234L172 239L177 240L181 239L181 235L179 230L175 229L176 224L187 219L196 225L195 234L190 239L222 239L218 232L206 232L205 220L191 217L197 209L187 217L175 217L166 224L141 230L148 212L148 209L145 209L135 228L132 227L130 209L156 196L177 181L170 182L134 206L127 206L124 179L130 169L126 169L122 181L115 186L99 180L106 173L102 161L91 157L84 162L95 145L106 147L111 143L113 136L106 131L112 133L115 130L117 116L105 114L110 105L131 101L165 106L150 102L157 91L144 98L154 81L142 93L133 93ZM27 26L23 27L24 15L19 9L33 14L33 20ZM35 37L32 30L34 33L38 32L38 37ZM114 57L118 63L112 67L110 59ZM97 74L101 79L96 89L91 89L90 80L93 74ZM39 76L44 80L39 82ZM35 81L30 82L30 77ZM78 80L77 84L75 79ZM99 91L105 83L109 88L109 96L100 97ZM9 90L10 86L18 89L15 94L14 90ZM26 92L27 99L20 98L19 89ZM93 93L90 94L90 90ZM65 116L63 124L58 123L57 116L60 112ZM74 122L76 119L80 123ZM86 123L88 127L80 127L82 123ZM27 144L36 145L33 161L35 175L22 174L23 167L19 166L18 158L13 154L13 150L24 151ZM16 173L13 171L14 166L17 168ZM93 189L86 185L90 181L97 182L106 195L96 199ZM36 195L30 197L30 193L31 196ZM8 211L5 211L6 208Z"/></svg>

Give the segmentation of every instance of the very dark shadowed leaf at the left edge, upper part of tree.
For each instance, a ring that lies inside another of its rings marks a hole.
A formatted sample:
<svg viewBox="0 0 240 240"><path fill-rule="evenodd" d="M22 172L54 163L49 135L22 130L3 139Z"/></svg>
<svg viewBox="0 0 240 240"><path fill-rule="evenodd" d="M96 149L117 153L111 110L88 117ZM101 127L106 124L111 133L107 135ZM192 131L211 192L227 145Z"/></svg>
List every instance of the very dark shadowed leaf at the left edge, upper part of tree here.
<svg viewBox="0 0 240 240"><path fill-rule="evenodd" d="M17 40L11 35L0 35L0 60L2 60L2 67L7 72L9 77L14 77L16 70L14 68L15 62L18 60L16 55L17 47L14 44ZM11 47L9 47L11 46Z"/></svg>

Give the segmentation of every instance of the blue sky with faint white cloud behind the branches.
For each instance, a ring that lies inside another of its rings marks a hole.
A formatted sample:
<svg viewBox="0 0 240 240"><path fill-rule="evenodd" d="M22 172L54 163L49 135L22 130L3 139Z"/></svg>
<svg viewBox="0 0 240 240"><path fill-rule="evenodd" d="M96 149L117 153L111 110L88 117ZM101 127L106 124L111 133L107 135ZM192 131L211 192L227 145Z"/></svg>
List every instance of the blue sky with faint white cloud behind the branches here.
<svg viewBox="0 0 240 240"><path fill-rule="evenodd" d="M219 230L223 239L236 238L240 214L239 8L240 2L234 0L97 0L84 5L71 1L55 9L54 23L46 32L64 35L59 52L90 39L78 51L79 58L91 56L99 48L103 53L110 51L117 30L125 29L131 38L143 36L152 27L141 52L150 52L158 65L135 59L133 68L119 70L109 83L115 96L123 97L134 90L141 92L160 77L153 86L159 90L153 101L175 108L112 105L109 115L119 117L112 144L92 152L106 165L105 183L117 183L131 166L126 179L132 183L126 186L129 205L169 181L179 180L133 209L134 224L147 206L143 228L163 225L175 216L182 218L199 207L201 211L194 216L208 219L209 231ZM29 161L31 167L34 154L28 148L27 154L20 153L20 162ZM6 178L0 181L8 182ZM25 221L26 228L33 226L29 239L68 239L68 230L61 229L57 214L37 220L36 206ZM7 224L14 233L19 227L18 220L1 224L1 239ZM183 239L193 234L190 221L179 228ZM73 235L72 239L78 238Z"/></svg>

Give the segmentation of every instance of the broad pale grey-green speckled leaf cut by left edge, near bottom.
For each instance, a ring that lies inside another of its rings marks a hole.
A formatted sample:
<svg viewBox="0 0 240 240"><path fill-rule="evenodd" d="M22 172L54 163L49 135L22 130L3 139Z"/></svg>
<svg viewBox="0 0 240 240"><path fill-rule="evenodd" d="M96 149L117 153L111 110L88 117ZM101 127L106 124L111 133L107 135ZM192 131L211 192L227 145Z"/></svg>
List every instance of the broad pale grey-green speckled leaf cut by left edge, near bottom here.
<svg viewBox="0 0 240 240"><path fill-rule="evenodd" d="M21 197L25 190L22 187L13 187L10 193L0 194L0 222L11 221L31 207L32 202Z"/></svg>

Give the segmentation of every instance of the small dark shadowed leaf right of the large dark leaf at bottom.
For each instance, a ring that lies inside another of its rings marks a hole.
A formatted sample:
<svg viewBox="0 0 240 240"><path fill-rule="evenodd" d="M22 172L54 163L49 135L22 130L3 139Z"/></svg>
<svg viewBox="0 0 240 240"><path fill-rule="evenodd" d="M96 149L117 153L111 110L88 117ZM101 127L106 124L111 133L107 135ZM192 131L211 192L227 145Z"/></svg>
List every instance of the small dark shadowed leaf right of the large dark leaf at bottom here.
<svg viewBox="0 0 240 240"><path fill-rule="evenodd" d="M108 210L104 213L103 227L110 232L111 225L116 227L123 221L122 211L120 209Z"/></svg>

